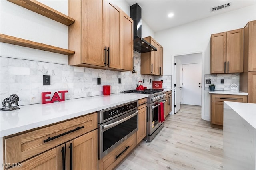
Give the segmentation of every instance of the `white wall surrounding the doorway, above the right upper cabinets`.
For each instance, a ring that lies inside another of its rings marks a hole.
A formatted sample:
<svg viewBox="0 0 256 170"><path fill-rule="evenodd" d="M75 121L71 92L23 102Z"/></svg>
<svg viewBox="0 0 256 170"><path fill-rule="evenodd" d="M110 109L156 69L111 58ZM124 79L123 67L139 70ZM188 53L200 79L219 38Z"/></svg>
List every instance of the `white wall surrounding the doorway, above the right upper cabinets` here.
<svg viewBox="0 0 256 170"><path fill-rule="evenodd" d="M171 75L172 55L205 51L205 73L210 73L210 36L243 28L256 20L255 5L170 28L155 33L155 39L164 47L164 75Z"/></svg>

